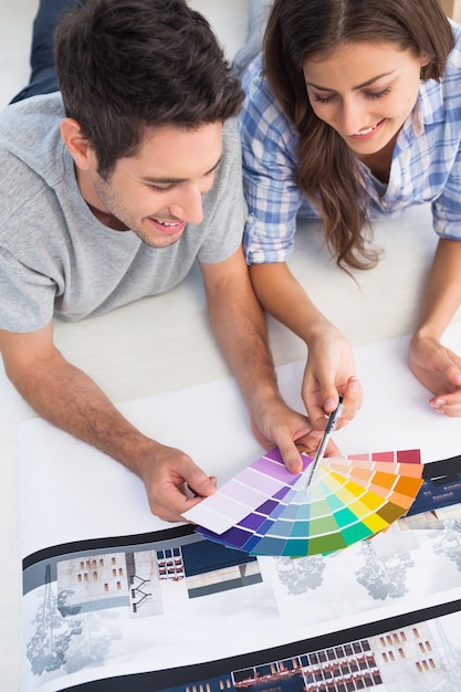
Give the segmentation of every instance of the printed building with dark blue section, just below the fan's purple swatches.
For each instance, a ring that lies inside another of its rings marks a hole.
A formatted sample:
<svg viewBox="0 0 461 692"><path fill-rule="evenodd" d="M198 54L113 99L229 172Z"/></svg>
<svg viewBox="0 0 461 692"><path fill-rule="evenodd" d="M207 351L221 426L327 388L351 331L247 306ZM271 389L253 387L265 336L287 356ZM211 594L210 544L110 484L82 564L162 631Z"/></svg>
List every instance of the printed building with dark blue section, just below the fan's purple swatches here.
<svg viewBox="0 0 461 692"><path fill-rule="evenodd" d="M245 553L202 538L175 543L59 560L61 615L126 606L132 618L158 616L169 584L199 598L262 581L258 559Z"/></svg>

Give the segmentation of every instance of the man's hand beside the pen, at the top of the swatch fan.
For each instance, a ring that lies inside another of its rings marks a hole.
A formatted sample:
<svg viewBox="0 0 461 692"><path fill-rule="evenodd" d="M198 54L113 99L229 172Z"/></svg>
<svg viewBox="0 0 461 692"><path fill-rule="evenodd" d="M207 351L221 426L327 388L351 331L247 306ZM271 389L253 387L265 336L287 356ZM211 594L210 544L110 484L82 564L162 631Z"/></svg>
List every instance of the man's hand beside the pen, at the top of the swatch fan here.
<svg viewBox="0 0 461 692"><path fill-rule="evenodd" d="M323 430L314 430L305 416L293 411L282 399L272 398L262 403L252 419L252 430L256 440L265 448L277 447L285 466L292 473L300 473L303 461L300 453L313 457L318 449ZM339 453L331 440L326 455Z"/></svg>

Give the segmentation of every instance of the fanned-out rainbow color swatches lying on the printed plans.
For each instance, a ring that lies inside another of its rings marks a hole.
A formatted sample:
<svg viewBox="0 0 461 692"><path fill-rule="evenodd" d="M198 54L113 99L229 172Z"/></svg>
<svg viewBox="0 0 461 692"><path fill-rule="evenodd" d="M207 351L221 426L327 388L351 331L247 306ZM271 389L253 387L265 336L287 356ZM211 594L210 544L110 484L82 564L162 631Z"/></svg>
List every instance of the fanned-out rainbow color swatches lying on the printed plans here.
<svg viewBox="0 0 461 692"><path fill-rule="evenodd" d="M251 555L305 557L370 538L407 513L422 485L419 450L312 458L293 475L274 449L185 514L197 531Z"/></svg>

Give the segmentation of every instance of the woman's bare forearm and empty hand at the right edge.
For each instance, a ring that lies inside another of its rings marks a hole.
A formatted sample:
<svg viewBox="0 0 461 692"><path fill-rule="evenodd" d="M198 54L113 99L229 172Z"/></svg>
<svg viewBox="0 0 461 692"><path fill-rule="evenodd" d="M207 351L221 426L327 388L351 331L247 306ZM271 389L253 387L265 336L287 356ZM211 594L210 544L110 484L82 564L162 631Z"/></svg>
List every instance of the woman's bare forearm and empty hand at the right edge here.
<svg viewBox="0 0 461 692"><path fill-rule="evenodd" d="M440 413L461 416L461 358L440 339L461 304L461 242L440 239L410 343L410 367Z"/></svg>

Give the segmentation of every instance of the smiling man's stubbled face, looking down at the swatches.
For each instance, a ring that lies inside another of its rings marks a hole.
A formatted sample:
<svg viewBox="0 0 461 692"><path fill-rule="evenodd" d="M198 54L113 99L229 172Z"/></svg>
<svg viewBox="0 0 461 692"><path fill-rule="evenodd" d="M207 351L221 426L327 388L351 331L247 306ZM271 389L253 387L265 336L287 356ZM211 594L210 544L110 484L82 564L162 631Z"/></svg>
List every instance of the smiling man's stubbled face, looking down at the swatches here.
<svg viewBox="0 0 461 692"><path fill-rule="evenodd" d="M221 123L146 128L138 154L118 159L107 180L93 157L78 178L82 193L106 226L130 230L151 248L170 245L187 223L203 218L201 198L221 159Z"/></svg>

